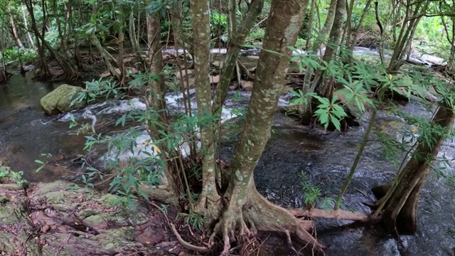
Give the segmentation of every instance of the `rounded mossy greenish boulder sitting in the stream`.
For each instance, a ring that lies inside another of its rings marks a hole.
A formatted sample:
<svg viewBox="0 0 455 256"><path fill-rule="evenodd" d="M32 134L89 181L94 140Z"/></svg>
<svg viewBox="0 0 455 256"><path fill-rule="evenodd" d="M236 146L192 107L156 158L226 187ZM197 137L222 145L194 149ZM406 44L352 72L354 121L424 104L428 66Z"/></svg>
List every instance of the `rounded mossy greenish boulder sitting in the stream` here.
<svg viewBox="0 0 455 256"><path fill-rule="evenodd" d="M41 107L49 115L65 113L85 107L85 102L77 102L71 106L71 102L77 97L77 93L82 92L82 90L81 87L73 85L60 85L57 89L41 98Z"/></svg>

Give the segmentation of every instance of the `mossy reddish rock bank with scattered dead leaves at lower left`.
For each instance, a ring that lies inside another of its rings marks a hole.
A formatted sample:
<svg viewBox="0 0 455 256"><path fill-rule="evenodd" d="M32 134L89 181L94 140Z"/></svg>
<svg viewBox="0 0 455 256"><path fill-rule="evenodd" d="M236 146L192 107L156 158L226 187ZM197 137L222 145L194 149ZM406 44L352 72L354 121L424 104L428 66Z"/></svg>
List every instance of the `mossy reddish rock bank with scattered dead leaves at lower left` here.
<svg viewBox="0 0 455 256"><path fill-rule="evenodd" d="M0 166L0 173L11 171ZM0 182L0 255L187 255L169 219L177 210L133 201L67 181L22 188ZM183 238L199 235L183 221ZM188 240L189 242L194 242Z"/></svg>

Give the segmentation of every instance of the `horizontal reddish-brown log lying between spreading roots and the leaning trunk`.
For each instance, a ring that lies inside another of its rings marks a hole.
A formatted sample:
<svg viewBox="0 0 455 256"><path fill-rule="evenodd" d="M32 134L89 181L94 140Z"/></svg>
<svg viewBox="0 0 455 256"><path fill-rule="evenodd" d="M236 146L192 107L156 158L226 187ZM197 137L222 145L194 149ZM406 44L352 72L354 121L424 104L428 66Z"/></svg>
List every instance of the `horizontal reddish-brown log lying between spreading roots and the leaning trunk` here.
<svg viewBox="0 0 455 256"><path fill-rule="evenodd" d="M327 211L317 208L311 210L290 209L289 212L298 218L333 218L336 220L358 220L365 223L373 220L369 214L340 209Z"/></svg>

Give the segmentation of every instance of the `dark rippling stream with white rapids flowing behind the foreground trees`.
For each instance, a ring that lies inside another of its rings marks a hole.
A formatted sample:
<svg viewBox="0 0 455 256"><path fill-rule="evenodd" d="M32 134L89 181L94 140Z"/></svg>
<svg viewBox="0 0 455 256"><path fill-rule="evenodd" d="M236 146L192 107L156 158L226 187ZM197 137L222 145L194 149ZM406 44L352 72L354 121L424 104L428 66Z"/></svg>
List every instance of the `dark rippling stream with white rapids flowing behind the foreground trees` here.
<svg viewBox="0 0 455 256"><path fill-rule="evenodd" d="M32 80L33 73L14 75L6 85L0 85L0 161L32 182L50 182L58 179L80 179L80 164L75 159L86 154L85 138L69 129L69 114L45 116L39 100L59 84ZM194 102L194 91L191 91ZM238 92L239 100L233 100L230 92L223 110L223 120L235 117L231 110L247 105L249 92ZM286 106L289 95L280 99ZM181 95L170 93L168 105L171 111L180 111ZM194 103L196 105L196 103ZM78 122L94 124L98 132L127 134L127 129L114 127L115 121L125 112L143 110L145 105L137 98L132 100L107 100L71 112ZM432 112L419 102L409 102L402 107L405 112L431 118ZM321 129L302 127L282 113L277 113L272 127L272 138L255 169L255 182L259 192L270 201L284 207L302 207L300 174L323 191L323 197L336 198L353 163L363 139L368 114L360 120L360 127L346 133L323 132ZM377 132L387 132L401 139L407 124L397 116L378 112L375 129L358 165L353 181L343 197L343 209L369 212L363 203L375 201L370 188L389 183L397 173L390 159L380 153L380 145L374 142ZM143 127L137 130L144 132ZM138 138L142 142L149 137ZM226 142L221 150L223 158L232 154L234 142ZM439 156L455 158L455 143L445 142ZM55 164L36 173L34 160L40 154L52 154ZM97 147L90 156L94 162L112 157L113 152ZM122 158L132 156L125 153ZM454 175L454 163L445 170ZM321 203L321 200L319 200ZM419 202L418 230L416 235L402 235L400 240L384 237L377 229L353 225L347 220L316 220L317 237L328 248L328 255L454 255L455 254L455 193L454 186L434 172L429 176ZM279 242L277 242L279 243ZM284 247L284 246L283 246ZM289 255L281 246L269 247L272 255Z"/></svg>

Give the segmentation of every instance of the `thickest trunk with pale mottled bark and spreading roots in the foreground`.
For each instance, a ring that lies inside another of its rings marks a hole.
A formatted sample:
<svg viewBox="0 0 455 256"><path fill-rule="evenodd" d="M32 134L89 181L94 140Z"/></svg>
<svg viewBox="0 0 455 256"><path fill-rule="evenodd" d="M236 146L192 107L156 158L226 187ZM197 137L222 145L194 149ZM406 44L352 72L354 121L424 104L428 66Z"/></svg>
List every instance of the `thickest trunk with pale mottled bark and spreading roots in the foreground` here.
<svg viewBox="0 0 455 256"><path fill-rule="evenodd" d="M204 1L204 0L203 0ZM222 235L222 255L228 255L232 234L238 242L245 241L257 230L281 232L309 242L309 247L323 250L304 228L300 220L287 210L274 206L262 197L255 188L253 171L270 137L270 128L282 91L284 78L289 68L291 50L299 34L308 0L274 0L270 10L264 45L247 108L246 122L235 146L235 153L228 173L226 187L221 188L225 200L216 219L215 235ZM245 245L247 247L247 245ZM245 250L245 247L240 249Z"/></svg>

